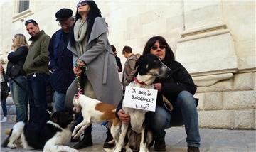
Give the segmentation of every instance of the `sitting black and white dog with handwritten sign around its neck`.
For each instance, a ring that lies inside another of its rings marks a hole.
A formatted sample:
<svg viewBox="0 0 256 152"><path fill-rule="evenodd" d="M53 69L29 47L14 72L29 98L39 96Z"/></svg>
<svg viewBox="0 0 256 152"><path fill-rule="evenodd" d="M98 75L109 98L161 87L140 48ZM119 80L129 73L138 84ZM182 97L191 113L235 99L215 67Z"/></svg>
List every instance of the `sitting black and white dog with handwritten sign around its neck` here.
<svg viewBox="0 0 256 152"><path fill-rule="evenodd" d="M166 72L170 70L169 67L162 63L159 57L151 54L142 55L137 60L136 67L137 71L134 74L134 81L129 86L146 89L154 89L154 85L152 85L154 80L157 77L164 77ZM122 109L126 114L130 115L131 120L130 124L122 122L121 134L114 151L121 151L126 135L128 137L128 143L126 143L125 148L128 151L149 151L149 148L153 144L153 136L144 123L147 111L129 107L122 107ZM130 128L129 125L131 126ZM138 142L139 140L140 142Z"/></svg>

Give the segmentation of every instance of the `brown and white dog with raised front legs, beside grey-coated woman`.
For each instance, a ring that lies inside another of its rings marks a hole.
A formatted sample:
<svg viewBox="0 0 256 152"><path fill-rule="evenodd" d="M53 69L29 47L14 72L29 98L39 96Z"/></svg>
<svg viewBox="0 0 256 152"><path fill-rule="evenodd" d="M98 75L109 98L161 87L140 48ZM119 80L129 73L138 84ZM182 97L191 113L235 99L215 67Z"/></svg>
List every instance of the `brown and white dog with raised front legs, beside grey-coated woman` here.
<svg viewBox="0 0 256 152"><path fill-rule="evenodd" d="M116 107L111 104L100 102L97 99L92 99L83 94L75 96L73 99L73 111L76 113L82 112L83 120L80 124L75 126L72 133L74 139L77 139L82 131L84 131L90 124L100 124L109 121L112 125L110 127L111 134L115 142L117 142L118 134L121 127L121 121L116 116Z"/></svg>

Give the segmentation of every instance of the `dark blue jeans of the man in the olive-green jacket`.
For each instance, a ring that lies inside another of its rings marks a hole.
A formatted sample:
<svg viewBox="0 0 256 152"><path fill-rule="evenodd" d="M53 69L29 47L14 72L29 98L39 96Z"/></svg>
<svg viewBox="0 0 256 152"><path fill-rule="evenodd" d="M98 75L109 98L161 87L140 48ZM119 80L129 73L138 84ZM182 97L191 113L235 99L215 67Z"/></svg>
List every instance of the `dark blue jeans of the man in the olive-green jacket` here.
<svg viewBox="0 0 256 152"><path fill-rule="evenodd" d="M48 75L44 73L36 73L36 75L28 75L28 98L29 98L29 121L45 122L49 116L46 112L46 84Z"/></svg>

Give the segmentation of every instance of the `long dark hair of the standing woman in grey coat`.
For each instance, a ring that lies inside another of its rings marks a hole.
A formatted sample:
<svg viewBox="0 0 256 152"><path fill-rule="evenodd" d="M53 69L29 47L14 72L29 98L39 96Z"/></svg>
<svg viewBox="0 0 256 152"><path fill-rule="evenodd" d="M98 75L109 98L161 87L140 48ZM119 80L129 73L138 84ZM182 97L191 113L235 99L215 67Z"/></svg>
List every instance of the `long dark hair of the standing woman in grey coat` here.
<svg viewBox="0 0 256 152"><path fill-rule="evenodd" d="M87 5L90 6L89 12L87 14L87 29L86 29L86 34L90 36L90 33L92 31L92 26L93 23L95 22L95 18L97 17L102 17L100 9L97 7L97 4L95 1L86 1ZM80 14L78 13L78 9L75 13L75 22L78 21L79 18L82 18ZM75 23L73 24L72 28L70 28L70 44L72 46L75 46L75 38L74 38L74 26ZM89 38L89 37L88 37Z"/></svg>

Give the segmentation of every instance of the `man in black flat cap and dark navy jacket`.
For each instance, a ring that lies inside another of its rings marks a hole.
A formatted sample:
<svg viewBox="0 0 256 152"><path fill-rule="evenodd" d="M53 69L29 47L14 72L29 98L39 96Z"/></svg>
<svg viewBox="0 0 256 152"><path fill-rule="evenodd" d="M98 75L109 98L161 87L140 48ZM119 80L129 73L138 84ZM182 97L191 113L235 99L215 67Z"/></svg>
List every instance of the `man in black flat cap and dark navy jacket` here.
<svg viewBox="0 0 256 152"><path fill-rule="evenodd" d="M50 39L49 45L49 70L50 84L55 90L53 102L55 102L56 111L64 109L65 94L71 82L75 79L73 72L72 53L68 50L69 31L73 26L74 18L71 9L60 9L55 14L56 21L59 22L60 30L56 31Z"/></svg>

